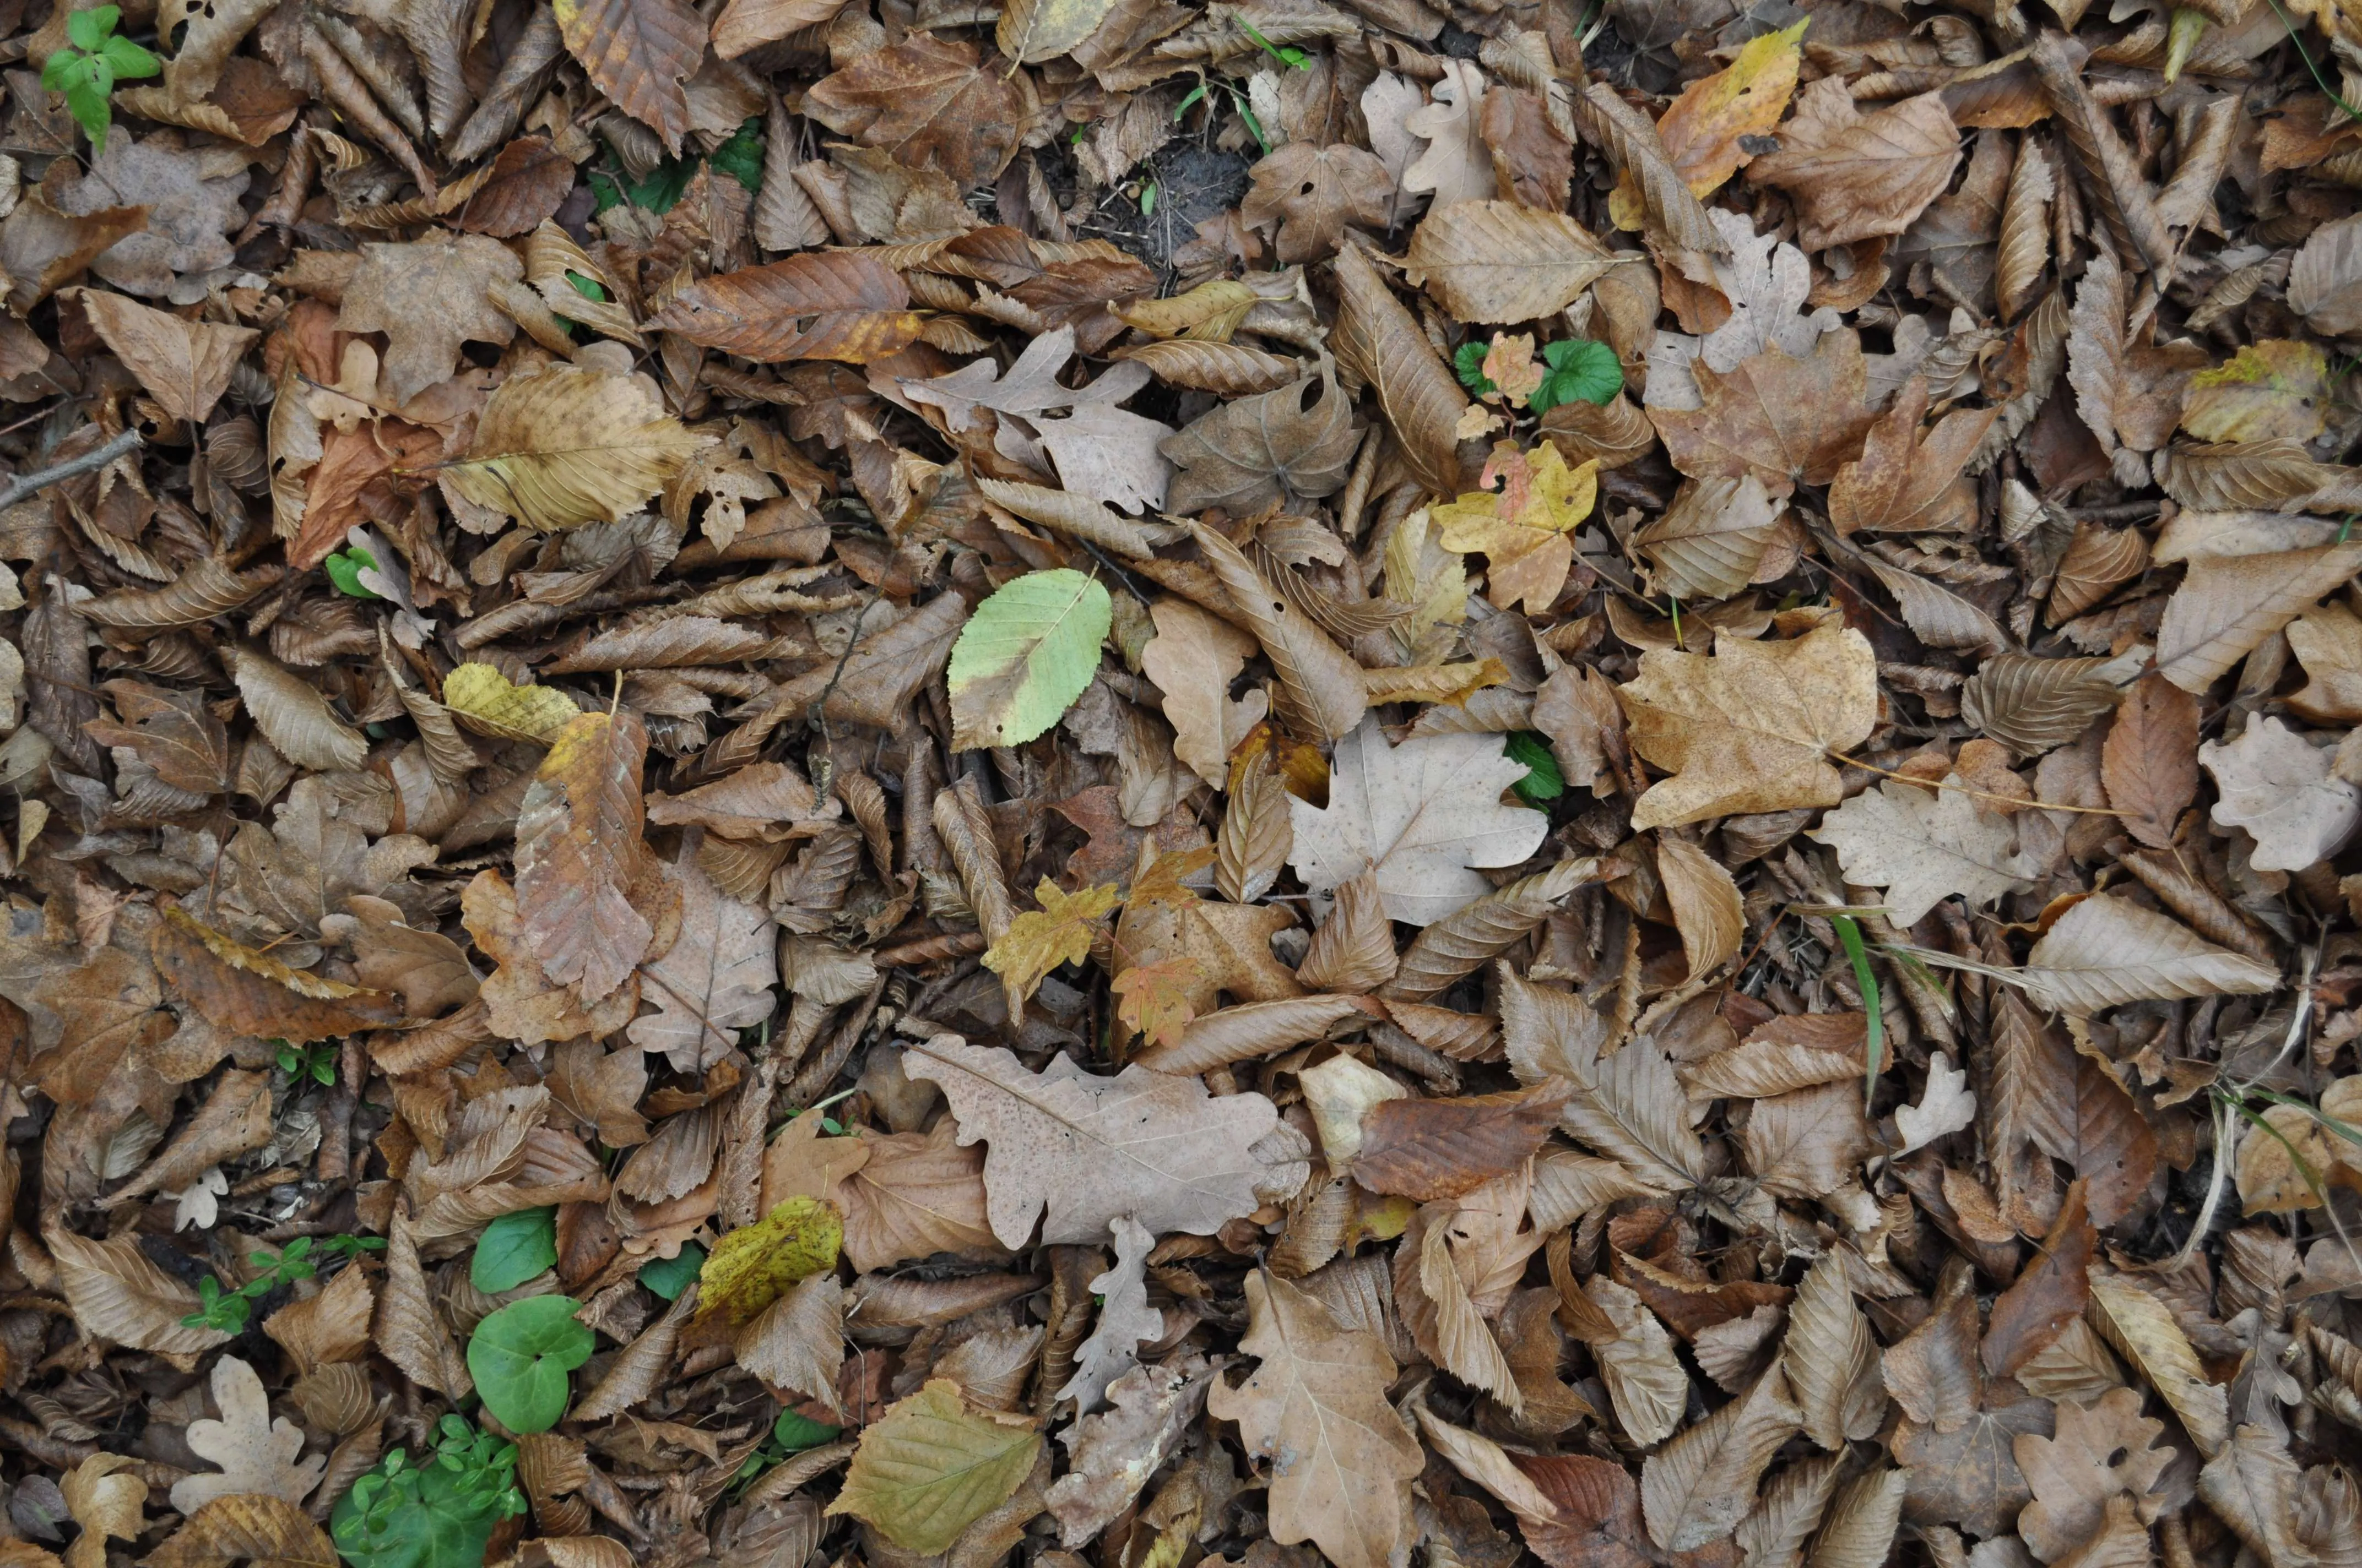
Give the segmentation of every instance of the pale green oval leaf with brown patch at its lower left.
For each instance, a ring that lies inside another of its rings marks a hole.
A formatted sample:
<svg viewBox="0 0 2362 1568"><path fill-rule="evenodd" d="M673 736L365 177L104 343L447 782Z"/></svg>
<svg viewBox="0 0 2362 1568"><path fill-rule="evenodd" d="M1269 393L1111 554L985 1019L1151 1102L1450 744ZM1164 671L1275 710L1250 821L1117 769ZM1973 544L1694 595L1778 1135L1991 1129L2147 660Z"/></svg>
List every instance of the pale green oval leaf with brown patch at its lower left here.
<svg viewBox="0 0 2362 1568"><path fill-rule="evenodd" d="M1023 746L1058 723L1098 671L1115 619L1082 571L1027 571L976 607L952 645L952 746Z"/></svg>

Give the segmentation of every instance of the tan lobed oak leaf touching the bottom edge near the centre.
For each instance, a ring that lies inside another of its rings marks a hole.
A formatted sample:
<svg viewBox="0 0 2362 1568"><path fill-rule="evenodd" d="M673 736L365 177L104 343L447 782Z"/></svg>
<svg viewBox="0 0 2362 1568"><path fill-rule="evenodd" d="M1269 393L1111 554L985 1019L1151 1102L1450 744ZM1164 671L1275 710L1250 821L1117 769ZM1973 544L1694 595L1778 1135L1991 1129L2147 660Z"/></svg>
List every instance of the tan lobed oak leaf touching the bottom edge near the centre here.
<svg viewBox="0 0 2362 1568"><path fill-rule="evenodd" d="M1271 1537L1313 1542L1337 1568L1382 1568L1403 1537L1420 1443L1386 1403L1394 1358L1377 1334L1344 1327L1316 1296L1247 1275L1254 1374L1216 1384L1207 1410L1238 1422L1249 1455L1273 1462Z"/></svg>

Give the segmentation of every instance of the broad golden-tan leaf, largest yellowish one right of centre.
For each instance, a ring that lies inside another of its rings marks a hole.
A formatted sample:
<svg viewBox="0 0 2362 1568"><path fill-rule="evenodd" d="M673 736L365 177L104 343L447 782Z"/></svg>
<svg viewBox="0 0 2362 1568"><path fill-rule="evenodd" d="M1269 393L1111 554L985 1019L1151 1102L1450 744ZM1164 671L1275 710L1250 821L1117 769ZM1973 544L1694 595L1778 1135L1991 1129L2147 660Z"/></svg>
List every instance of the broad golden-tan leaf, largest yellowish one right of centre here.
<svg viewBox="0 0 2362 1568"><path fill-rule="evenodd" d="M1717 638L1715 654L1649 649L1616 690L1632 751L1670 767L1632 805L1632 827L1835 805L1828 756L1878 723L1878 661L1859 631L1823 623L1793 642Z"/></svg>

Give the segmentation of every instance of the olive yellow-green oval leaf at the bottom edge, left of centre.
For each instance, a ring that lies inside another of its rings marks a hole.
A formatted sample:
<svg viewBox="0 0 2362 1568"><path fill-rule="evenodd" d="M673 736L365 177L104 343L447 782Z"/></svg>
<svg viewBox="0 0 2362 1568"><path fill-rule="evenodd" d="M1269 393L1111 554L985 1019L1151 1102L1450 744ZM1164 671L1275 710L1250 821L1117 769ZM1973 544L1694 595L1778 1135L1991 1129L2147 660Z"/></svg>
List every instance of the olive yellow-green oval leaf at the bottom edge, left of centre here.
<svg viewBox="0 0 2362 1568"><path fill-rule="evenodd" d="M853 1514L905 1551L935 1556L1009 1502L1039 1457L1030 1419L976 1410L952 1379L928 1379L862 1433L829 1514Z"/></svg>

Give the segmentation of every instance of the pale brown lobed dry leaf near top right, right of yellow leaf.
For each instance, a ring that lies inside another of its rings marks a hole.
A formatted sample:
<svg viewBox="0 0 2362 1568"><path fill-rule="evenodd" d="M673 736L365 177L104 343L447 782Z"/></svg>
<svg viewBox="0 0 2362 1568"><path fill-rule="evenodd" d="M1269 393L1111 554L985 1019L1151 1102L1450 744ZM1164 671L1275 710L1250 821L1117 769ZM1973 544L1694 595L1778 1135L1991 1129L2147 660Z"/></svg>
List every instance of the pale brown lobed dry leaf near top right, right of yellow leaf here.
<svg viewBox="0 0 2362 1568"><path fill-rule="evenodd" d="M1942 92L1861 113L1840 78L1821 78L1795 99L1781 146L1748 165L1755 184L1797 201L1807 250L1901 234L1951 184L1960 132Z"/></svg>

